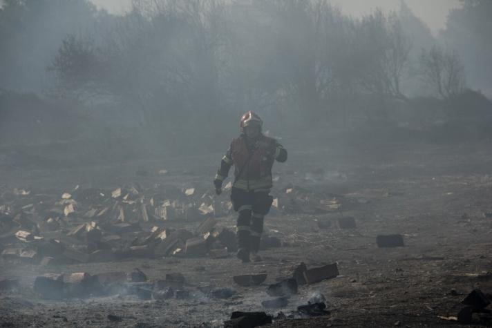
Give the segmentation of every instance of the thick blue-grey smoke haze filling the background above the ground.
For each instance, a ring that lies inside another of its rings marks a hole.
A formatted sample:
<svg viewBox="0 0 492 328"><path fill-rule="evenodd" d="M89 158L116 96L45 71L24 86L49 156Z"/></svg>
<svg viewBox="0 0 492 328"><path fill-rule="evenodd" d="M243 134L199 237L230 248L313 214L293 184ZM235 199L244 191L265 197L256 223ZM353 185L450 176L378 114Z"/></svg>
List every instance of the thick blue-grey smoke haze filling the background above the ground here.
<svg viewBox="0 0 492 328"><path fill-rule="evenodd" d="M492 1L3 3L1 141L220 151L247 110L316 140L489 122Z"/></svg>

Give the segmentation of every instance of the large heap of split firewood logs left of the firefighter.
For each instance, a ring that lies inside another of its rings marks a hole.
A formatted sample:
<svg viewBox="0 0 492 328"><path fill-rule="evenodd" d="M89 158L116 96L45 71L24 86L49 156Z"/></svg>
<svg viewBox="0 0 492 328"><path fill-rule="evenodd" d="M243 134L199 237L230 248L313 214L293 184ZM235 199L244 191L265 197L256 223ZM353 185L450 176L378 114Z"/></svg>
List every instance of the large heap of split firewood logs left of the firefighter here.
<svg viewBox="0 0 492 328"><path fill-rule="evenodd" d="M236 234L217 227L215 218L228 213L229 205L214 202L207 193L194 195L195 189L142 191L138 186L111 192L77 187L61 197L23 189L4 191L0 195L1 256L43 265L227 257L236 251ZM176 199L169 200L171 196ZM163 227L178 218L200 224L195 231ZM280 241L273 239L265 235L263 248L279 247Z"/></svg>

